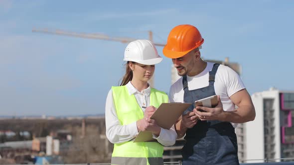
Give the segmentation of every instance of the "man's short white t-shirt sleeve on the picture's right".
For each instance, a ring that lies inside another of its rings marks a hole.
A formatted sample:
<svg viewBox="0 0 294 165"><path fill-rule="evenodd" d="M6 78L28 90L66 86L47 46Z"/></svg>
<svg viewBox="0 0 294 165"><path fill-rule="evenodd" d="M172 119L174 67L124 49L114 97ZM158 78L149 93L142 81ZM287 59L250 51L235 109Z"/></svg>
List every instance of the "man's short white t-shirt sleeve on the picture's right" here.
<svg viewBox="0 0 294 165"><path fill-rule="evenodd" d="M230 97L237 91L240 91L245 88L244 83L242 82L240 76L231 68L226 67L227 70L227 93L228 96Z"/></svg>

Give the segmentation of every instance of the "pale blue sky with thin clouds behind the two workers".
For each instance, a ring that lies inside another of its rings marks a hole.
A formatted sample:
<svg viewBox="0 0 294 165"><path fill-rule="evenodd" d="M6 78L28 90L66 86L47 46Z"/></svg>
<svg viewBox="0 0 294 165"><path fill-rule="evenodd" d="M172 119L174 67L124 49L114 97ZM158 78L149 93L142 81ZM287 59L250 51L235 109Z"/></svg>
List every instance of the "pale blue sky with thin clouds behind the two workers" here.
<svg viewBox="0 0 294 165"><path fill-rule="evenodd" d="M104 33L165 43L179 24L196 26L204 59L242 66L250 92L294 90L293 0L0 0L0 115L103 114L124 74L127 44L32 33L32 28ZM157 47L162 55L162 47ZM156 65L168 92L171 60Z"/></svg>

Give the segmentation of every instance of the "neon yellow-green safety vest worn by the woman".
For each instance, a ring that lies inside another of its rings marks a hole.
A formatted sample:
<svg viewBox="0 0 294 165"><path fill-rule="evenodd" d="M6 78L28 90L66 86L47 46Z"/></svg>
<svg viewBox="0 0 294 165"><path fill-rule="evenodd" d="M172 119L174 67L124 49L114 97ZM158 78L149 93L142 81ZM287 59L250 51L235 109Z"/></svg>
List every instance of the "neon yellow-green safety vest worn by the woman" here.
<svg viewBox="0 0 294 165"><path fill-rule="evenodd" d="M121 125L136 122L144 117L144 112L139 106L135 95L129 94L127 86L113 86L112 92L117 116ZM162 91L151 88L150 105L158 108L164 102L168 102L167 95ZM138 161L135 165L141 165L143 159L146 161L146 164L143 165L152 165L155 160L161 162L162 153L163 146L157 142L124 142L114 145L112 164L120 163L118 165L130 165L134 164L134 161ZM149 158L154 158L151 160L152 164L149 162Z"/></svg>

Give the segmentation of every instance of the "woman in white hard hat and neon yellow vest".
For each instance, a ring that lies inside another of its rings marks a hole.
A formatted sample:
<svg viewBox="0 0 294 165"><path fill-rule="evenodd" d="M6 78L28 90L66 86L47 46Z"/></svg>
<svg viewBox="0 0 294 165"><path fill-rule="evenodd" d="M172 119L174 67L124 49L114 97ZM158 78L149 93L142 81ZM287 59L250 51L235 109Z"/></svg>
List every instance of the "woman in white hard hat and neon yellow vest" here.
<svg viewBox="0 0 294 165"><path fill-rule="evenodd" d="M166 130L150 119L161 103L168 102L164 92L147 83L161 60L148 40L133 41L125 50L126 74L120 86L110 89L105 106L106 136L114 144L113 165L163 165L163 146L175 143L174 127ZM140 131L151 131L155 142L134 143Z"/></svg>

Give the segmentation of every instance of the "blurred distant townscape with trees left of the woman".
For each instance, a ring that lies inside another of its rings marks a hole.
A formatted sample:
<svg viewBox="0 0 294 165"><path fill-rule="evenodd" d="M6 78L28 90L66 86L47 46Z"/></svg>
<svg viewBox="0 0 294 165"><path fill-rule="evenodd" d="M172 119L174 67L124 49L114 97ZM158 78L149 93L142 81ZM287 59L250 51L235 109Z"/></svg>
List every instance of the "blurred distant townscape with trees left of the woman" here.
<svg viewBox="0 0 294 165"><path fill-rule="evenodd" d="M103 116L0 120L0 164L105 163L112 148Z"/></svg>

